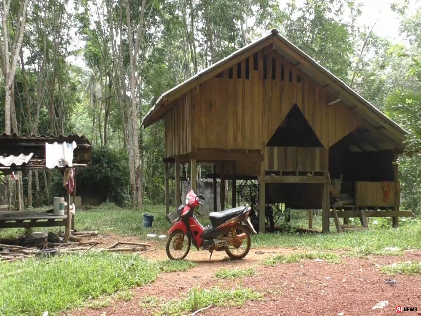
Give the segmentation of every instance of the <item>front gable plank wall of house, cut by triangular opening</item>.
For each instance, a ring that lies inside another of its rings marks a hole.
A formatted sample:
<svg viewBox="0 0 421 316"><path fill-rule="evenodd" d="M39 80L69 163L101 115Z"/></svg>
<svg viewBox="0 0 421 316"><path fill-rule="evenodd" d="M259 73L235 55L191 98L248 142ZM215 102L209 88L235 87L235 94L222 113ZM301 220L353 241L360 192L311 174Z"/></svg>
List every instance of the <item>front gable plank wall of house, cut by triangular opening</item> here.
<svg viewBox="0 0 421 316"><path fill-rule="evenodd" d="M327 90L275 51L200 84L192 104L195 148L262 149L294 104L325 148L362 123L345 104L328 105Z"/></svg>

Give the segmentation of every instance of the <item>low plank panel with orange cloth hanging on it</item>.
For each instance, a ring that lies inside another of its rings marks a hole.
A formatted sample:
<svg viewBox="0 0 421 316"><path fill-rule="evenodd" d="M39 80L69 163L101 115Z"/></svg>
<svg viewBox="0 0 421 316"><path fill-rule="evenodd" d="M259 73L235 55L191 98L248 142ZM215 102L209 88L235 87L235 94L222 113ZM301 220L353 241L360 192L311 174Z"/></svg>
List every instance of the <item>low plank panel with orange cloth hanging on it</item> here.
<svg viewBox="0 0 421 316"><path fill-rule="evenodd" d="M386 202L383 200L384 190L382 182L354 182L355 204L358 206L385 207L400 204L400 194L397 188L399 182L386 181L390 187L389 197Z"/></svg>

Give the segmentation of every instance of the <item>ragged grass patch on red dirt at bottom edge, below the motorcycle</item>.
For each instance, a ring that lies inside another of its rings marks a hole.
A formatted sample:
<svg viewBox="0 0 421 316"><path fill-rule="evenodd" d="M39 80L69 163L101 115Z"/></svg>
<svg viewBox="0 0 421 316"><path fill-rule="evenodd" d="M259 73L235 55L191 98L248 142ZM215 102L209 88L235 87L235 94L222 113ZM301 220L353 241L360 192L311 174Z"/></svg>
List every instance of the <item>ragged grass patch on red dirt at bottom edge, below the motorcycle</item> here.
<svg viewBox="0 0 421 316"><path fill-rule="evenodd" d="M164 315L185 315L207 306L242 306L247 301L261 300L263 294L250 288L221 289L213 287L202 289L194 287L187 297L171 300L162 306Z"/></svg>

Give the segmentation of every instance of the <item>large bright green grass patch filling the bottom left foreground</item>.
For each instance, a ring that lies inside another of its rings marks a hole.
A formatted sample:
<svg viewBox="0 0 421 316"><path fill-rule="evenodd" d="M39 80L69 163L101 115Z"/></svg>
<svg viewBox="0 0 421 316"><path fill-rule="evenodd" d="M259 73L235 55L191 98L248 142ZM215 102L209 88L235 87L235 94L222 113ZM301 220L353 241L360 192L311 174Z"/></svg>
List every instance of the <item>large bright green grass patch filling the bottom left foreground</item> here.
<svg viewBox="0 0 421 316"><path fill-rule="evenodd" d="M162 272L186 271L195 265L188 260L153 262L138 254L109 252L3 263L0 315L59 313L86 304L101 308L110 301L104 296L118 291L115 300L131 300L132 287L155 281Z"/></svg>

